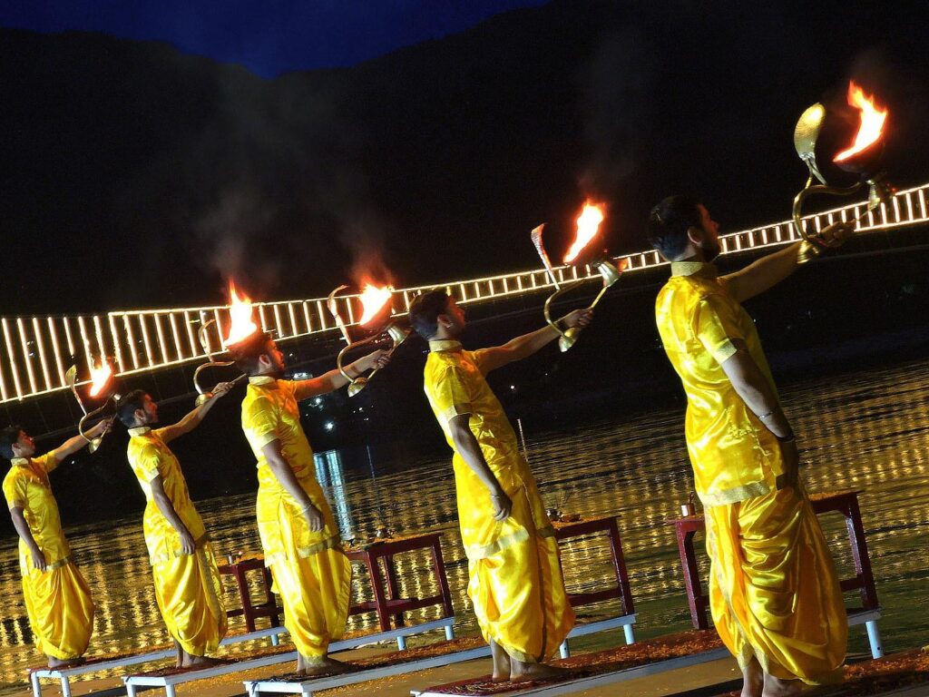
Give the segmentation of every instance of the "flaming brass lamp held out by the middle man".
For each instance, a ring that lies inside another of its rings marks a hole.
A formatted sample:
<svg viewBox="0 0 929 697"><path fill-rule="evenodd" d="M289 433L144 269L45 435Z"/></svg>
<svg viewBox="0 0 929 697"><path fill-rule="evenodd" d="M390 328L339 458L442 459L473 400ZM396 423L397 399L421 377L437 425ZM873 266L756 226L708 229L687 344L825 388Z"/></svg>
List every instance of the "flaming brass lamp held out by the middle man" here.
<svg viewBox="0 0 929 697"><path fill-rule="evenodd" d="M393 288L388 286L378 287L372 283L366 283L364 290L358 296L361 303L361 317L358 323L362 329L370 331L372 334L353 342L351 335L348 333L346 322L342 319L342 315L339 313L338 306L335 302L336 294L345 290L347 287L347 285L340 285L338 288L335 288L334 291L329 294L326 306L332 313L335 323L342 331L342 336L346 340L346 346L339 351L338 358L335 359L335 364L338 366L339 372L345 375L349 382L348 396L354 397L368 385L379 369L374 368L371 374L367 376L348 375L343 365L348 351L360 349L363 346L389 339L391 346L387 351L387 355L392 356L394 351L397 350L397 347L399 347L399 345L406 340L406 337L411 334L412 330L408 326L401 324L399 318L393 316Z"/></svg>

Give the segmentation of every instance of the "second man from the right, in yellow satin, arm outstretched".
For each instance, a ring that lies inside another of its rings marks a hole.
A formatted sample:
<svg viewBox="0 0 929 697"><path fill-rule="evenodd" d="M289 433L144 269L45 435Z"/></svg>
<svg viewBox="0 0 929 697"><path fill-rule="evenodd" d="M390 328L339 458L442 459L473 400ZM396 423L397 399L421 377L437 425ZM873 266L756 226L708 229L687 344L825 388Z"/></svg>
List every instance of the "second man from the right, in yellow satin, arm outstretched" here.
<svg viewBox="0 0 929 697"><path fill-rule="evenodd" d="M575 310L560 322L583 327L590 317ZM552 676L556 669L544 662L574 626L574 611L542 496L485 375L528 358L558 333L546 326L504 346L465 351L458 341L464 312L441 290L418 296L410 320L429 341L425 394L454 453L467 592L491 645L493 679Z"/></svg>

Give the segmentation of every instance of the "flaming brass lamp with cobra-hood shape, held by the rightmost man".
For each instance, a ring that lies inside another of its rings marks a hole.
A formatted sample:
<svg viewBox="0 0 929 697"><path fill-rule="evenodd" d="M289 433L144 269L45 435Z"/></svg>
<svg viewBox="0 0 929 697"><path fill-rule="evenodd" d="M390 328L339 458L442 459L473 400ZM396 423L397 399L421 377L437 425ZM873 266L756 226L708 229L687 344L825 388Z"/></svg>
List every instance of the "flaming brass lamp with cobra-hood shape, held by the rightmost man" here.
<svg viewBox="0 0 929 697"><path fill-rule="evenodd" d="M799 259L801 263L843 242L828 234L826 232L828 228L817 231L806 230L803 207L807 198L817 194L849 196L861 191L867 185L868 207L865 213L868 213L880 204L886 203L894 192L894 188L885 180L881 166L887 111L879 107L873 97L865 95L861 87L854 82L848 85L848 104L857 110L859 119L857 135L850 146L833 154L831 161L845 172L858 176L858 181L851 186L831 186L823 176L822 168L817 162L818 145L821 150L821 141L824 139L821 137L832 124L839 123L838 119L830 118L831 114L825 106L818 103L811 106L803 113L793 130L793 147L809 168L806 186L793 199L793 227L807 242ZM819 184L815 183L817 180ZM860 217L850 222L857 223L858 219Z"/></svg>

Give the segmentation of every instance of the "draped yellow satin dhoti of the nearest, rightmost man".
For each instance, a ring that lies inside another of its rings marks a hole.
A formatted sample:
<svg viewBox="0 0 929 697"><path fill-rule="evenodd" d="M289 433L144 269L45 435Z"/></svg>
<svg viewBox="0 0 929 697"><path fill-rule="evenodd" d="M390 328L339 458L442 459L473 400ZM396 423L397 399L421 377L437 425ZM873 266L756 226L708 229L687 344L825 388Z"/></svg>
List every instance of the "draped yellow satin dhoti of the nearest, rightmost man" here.
<svg viewBox="0 0 929 697"><path fill-rule="evenodd" d="M716 631L745 667L831 682L848 623L835 566L805 493L782 489L706 508Z"/></svg>

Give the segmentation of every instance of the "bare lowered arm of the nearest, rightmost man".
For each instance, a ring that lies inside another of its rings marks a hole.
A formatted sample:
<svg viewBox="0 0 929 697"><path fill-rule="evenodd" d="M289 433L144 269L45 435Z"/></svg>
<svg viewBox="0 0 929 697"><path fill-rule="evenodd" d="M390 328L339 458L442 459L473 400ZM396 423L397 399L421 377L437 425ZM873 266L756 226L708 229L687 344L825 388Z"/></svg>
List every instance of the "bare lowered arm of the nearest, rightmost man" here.
<svg viewBox="0 0 929 697"><path fill-rule="evenodd" d="M745 405L780 441L781 452L784 456L784 472L791 484L794 484L800 456L797 453L797 443L793 438L793 429L780 408L774 388L752 359L744 342L736 340L733 344L736 352L723 362L723 371Z"/></svg>

